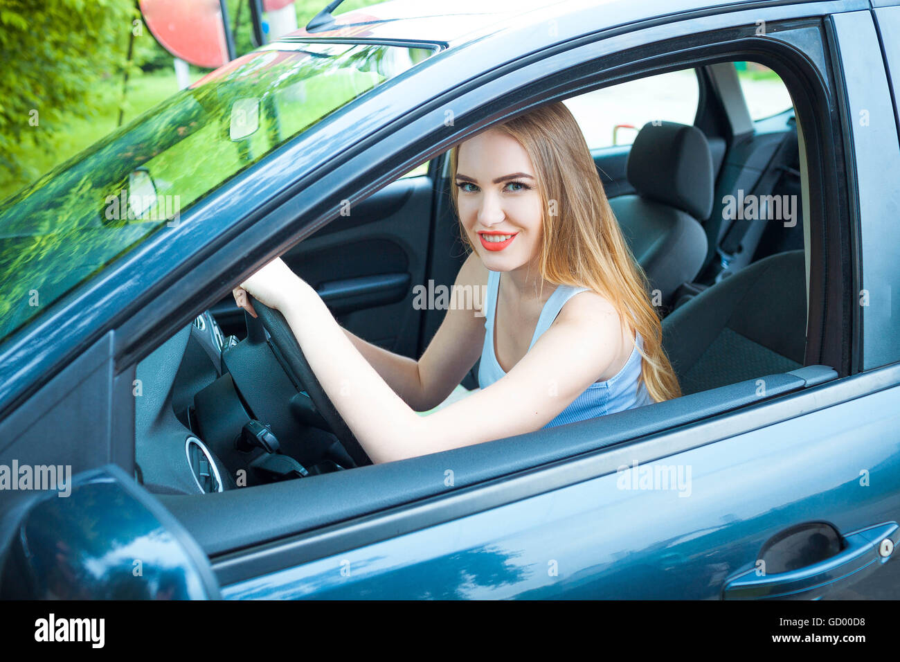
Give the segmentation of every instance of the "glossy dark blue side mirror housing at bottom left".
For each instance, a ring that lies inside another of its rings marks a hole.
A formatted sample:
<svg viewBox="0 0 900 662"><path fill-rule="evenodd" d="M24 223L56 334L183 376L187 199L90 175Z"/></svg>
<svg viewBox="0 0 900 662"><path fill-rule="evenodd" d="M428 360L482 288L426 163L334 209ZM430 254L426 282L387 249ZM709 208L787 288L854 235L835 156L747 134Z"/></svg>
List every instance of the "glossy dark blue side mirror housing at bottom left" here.
<svg viewBox="0 0 900 662"><path fill-rule="evenodd" d="M0 522L0 599L221 599L184 524L120 467L50 476Z"/></svg>

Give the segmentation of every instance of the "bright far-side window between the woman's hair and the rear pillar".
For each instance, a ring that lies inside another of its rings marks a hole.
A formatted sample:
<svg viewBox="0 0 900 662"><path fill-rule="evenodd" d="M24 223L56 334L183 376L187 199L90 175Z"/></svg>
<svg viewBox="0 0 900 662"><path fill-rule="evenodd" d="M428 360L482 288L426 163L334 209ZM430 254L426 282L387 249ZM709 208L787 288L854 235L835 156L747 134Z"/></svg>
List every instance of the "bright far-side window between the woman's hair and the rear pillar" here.
<svg viewBox="0 0 900 662"><path fill-rule="evenodd" d="M693 124L700 88L694 69L632 80L565 100L591 150L630 145L647 122Z"/></svg>

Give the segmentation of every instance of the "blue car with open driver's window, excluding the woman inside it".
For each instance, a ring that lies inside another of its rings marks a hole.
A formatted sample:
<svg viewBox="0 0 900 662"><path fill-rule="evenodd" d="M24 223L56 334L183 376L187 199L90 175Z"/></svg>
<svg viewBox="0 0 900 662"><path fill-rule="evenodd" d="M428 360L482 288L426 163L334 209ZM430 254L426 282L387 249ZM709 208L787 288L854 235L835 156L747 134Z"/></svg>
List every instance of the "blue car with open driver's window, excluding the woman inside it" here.
<svg viewBox="0 0 900 662"><path fill-rule="evenodd" d="M14 195L0 594L896 597L898 5L322 14ZM751 113L739 68L788 107ZM682 395L372 465L232 288L282 256L418 358L446 306L417 286L465 257L447 150L560 100Z"/></svg>

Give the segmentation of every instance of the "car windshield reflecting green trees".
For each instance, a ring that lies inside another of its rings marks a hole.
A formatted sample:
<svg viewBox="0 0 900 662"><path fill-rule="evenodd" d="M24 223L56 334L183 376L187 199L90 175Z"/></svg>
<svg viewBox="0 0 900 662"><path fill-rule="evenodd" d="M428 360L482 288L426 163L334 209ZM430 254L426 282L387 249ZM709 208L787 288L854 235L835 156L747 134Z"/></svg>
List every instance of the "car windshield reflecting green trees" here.
<svg viewBox="0 0 900 662"><path fill-rule="evenodd" d="M229 177L433 52L295 46L229 62L0 204L0 341Z"/></svg>

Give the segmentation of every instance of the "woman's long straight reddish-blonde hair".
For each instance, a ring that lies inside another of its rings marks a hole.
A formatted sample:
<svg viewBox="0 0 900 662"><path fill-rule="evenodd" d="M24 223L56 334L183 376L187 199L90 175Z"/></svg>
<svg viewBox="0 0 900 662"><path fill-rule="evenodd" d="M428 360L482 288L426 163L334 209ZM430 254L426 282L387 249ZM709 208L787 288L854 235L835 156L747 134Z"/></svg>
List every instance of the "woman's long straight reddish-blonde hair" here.
<svg viewBox="0 0 900 662"><path fill-rule="evenodd" d="M679 397L678 378L662 349L662 324L650 301L649 281L622 235L572 113L556 102L493 128L516 139L536 169L544 216L541 276L554 285L588 287L615 307L619 319L631 319L644 337L644 350L637 346L643 357L638 385L644 382L654 402ZM458 150L456 145L450 151L451 181ZM460 234L475 250L459 217L459 189L450 189Z"/></svg>

